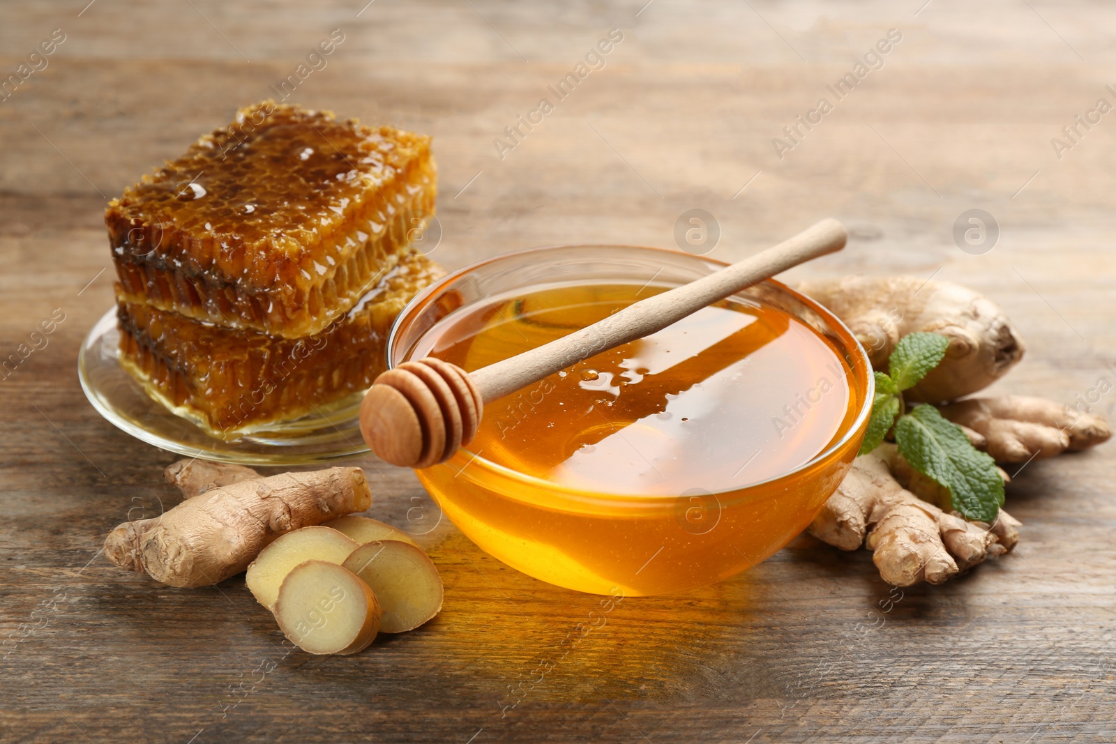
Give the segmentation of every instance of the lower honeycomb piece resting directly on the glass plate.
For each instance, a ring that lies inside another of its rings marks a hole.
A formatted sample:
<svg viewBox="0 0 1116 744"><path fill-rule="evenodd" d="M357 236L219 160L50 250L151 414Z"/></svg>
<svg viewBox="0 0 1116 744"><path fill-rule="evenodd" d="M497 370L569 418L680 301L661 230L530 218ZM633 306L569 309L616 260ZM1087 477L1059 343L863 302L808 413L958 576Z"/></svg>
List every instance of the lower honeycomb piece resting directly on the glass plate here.
<svg viewBox="0 0 1116 744"><path fill-rule="evenodd" d="M121 364L147 394L222 439L267 429L359 394L386 366L387 332L445 273L406 254L359 303L299 339L221 328L142 302L117 287Z"/></svg>

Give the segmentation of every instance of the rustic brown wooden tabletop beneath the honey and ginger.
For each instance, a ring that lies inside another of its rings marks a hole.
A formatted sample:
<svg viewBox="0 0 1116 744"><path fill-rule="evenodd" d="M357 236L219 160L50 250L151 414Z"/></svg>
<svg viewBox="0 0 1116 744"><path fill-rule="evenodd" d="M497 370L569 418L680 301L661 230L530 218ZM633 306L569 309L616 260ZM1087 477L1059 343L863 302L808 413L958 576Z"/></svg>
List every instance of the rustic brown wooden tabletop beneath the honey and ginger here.
<svg viewBox="0 0 1116 744"><path fill-rule="evenodd" d="M292 99L434 135L448 267L672 247L694 207L735 259L834 215L848 249L799 276L969 283L1029 344L998 389L1072 403L1116 380L1116 114L1060 160L1050 139L1116 104L1110 3L87 1L0 3L4 76L66 35L0 102L0 356L65 313L0 380L0 740L1116 741L1116 446L1027 466L1019 550L968 577L901 592L867 552L800 538L719 586L625 600L523 697L596 599L487 557L408 471L355 461L371 514L423 533L445 609L356 657L288 655L240 578L187 591L109 566L109 528L173 501L174 457L97 416L76 375L110 305L106 199L340 28ZM493 138L610 28L607 67L500 160ZM892 28L884 67L780 160L771 138ZM1000 226L989 252L954 243L969 209Z"/></svg>

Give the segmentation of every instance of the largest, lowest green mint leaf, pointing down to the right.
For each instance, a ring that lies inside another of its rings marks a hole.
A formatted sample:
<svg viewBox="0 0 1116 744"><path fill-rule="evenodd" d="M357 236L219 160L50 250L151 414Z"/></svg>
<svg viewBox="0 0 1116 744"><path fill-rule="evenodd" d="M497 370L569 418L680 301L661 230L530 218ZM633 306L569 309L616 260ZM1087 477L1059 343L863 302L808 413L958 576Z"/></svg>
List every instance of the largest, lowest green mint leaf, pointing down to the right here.
<svg viewBox="0 0 1116 744"><path fill-rule="evenodd" d="M1003 479L995 462L978 452L960 426L934 406L915 406L895 424L895 442L916 471L949 490L955 511L965 519L995 522Z"/></svg>

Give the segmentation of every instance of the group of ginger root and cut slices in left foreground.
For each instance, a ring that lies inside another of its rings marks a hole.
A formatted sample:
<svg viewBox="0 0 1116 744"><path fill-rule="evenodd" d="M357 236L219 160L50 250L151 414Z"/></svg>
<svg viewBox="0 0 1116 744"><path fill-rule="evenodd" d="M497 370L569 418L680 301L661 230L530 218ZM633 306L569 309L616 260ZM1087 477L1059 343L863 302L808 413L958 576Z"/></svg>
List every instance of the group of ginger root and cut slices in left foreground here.
<svg viewBox="0 0 1116 744"><path fill-rule="evenodd" d="M442 579L414 539L352 515L372 501L358 467L263 477L183 460L164 476L185 500L113 530L105 553L117 566L174 587L247 568L252 595L310 654L356 654L381 630L412 630L442 609Z"/></svg>

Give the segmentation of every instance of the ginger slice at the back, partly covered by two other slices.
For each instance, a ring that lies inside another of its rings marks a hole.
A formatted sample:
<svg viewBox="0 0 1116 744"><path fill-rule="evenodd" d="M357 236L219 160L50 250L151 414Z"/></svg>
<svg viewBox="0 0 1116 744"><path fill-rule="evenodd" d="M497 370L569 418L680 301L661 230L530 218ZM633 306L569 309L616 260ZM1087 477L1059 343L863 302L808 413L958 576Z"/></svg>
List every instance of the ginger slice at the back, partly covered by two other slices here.
<svg viewBox="0 0 1116 744"><path fill-rule="evenodd" d="M260 551L244 574L256 600L273 609L279 588L291 569L309 560L340 566L359 548L348 535L328 526L307 526L280 537Z"/></svg>

